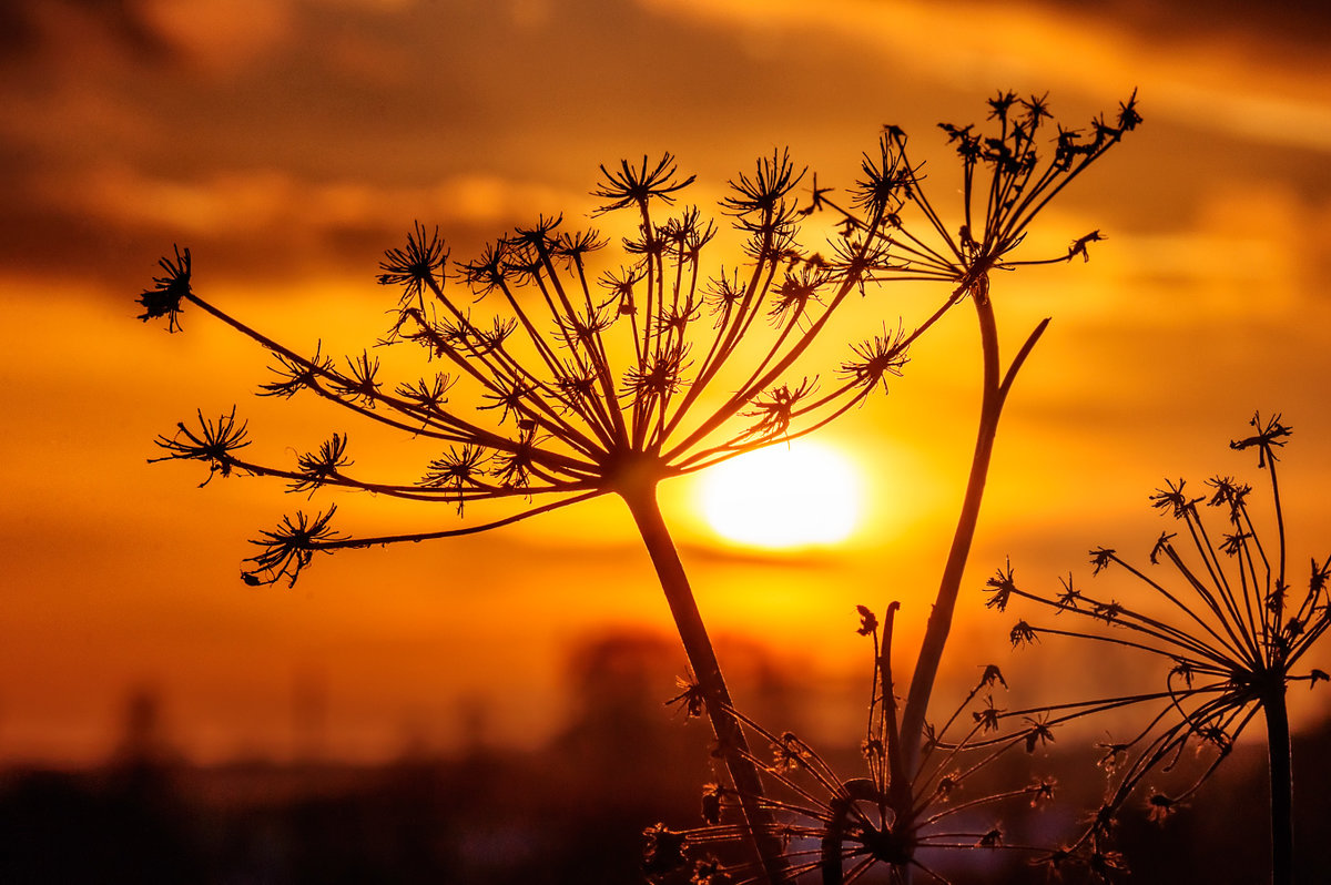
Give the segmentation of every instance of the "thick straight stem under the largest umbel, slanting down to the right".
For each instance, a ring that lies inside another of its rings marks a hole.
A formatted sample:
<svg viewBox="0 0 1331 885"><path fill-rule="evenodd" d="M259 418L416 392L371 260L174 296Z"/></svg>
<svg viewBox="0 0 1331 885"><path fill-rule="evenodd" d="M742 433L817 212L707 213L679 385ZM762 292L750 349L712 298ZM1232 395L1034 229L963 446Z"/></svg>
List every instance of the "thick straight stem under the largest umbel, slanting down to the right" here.
<svg viewBox="0 0 1331 885"><path fill-rule="evenodd" d="M679 637L684 643L688 665L703 691L707 716L716 733L721 757L725 760L735 791L739 793L745 829L752 837L765 880L773 885L787 881L787 864L781 856L780 841L772 833L771 814L760 806L763 781L751 759L744 732L731 713L729 689L725 687L721 667L712 649L712 640L707 635L707 627L693 599L693 591L689 588L688 575L684 574L684 564L679 559L679 551L675 550L675 542L671 539L666 520L662 519L660 506L656 500L656 486L655 483L635 483L622 487L619 494L628 504L634 522L638 523L638 531L643 536L643 543L647 546L647 552L652 558L652 564L656 567L666 602L675 618Z"/></svg>

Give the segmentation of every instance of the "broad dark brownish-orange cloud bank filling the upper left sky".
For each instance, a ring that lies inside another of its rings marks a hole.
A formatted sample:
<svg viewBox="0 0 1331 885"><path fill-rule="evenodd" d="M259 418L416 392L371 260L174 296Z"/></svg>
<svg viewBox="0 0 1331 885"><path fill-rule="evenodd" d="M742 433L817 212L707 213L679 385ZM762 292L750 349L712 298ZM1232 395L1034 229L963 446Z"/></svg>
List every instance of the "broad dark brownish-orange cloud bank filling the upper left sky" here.
<svg viewBox="0 0 1331 885"><path fill-rule="evenodd" d="M81 61L77 47L56 41L52 16L5 7L29 33L29 88L0 84L0 102L17 109L0 126L0 156L16 160L0 169L8 197L0 262L11 269L102 278L133 269L141 277L144 262L150 266L182 232L144 221L161 213L126 209L117 220L105 205L80 210L92 197L71 189L112 173L202 190L232 173L272 172L293 182L294 194L338 182L390 193L491 174L586 193L596 164L620 156L671 149L691 170L723 156L721 170L697 169L720 177L773 140L823 125L787 110L787 102L812 106L821 90L799 65L755 60L733 35L632 3L567 4L544 17L484 3L418 4L395 15L297 5L291 32L273 51L230 67L192 64L180 44L176 64L142 64L157 56L140 51L162 37L132 4L57 5L134 52ZM91 39L88 28L80 33ZM864 121L866 140L873 125ZM735 152L717 152L720 141ZM560 209L534 205L530 213ZM399 212L393 232L379 220L317 232L256 222L193 242L214 262L241 262L248 248L252 270L349 254L359 267L366 244L377 254L410 224L414 209ZM80 242L73 252L71 234ZM145 241L156 246L138 254Z"/></svg>

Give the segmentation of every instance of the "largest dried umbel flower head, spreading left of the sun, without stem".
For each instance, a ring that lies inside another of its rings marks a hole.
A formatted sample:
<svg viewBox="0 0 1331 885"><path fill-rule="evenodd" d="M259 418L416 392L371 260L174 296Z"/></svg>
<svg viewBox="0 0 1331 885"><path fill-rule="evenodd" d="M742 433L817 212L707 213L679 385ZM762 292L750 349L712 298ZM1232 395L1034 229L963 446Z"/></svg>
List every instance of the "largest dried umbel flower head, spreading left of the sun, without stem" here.
<svg viewBox="0 0 1331 885"><path fill-rule="evenodd" d="M627 212L636 222L636 234L622 242L623 266L595 271L594 253L607 241L544 216L451 267L439 232L419 224L405 248L389 250L379 282L399 297L379 343L414 343L442 363L406 382L387 382L371 351L342 363L318 350L301 355L200 295L188 250L162 261L166 275L141 297L144 319L168 317L177 330L181 310L197 305L276 355L277 379L264 385L265 395L309 391L441 446L406 483L353 474L345 434L294 467L261 464L238 454L245 427L232 433L233 411L226 433L182 425L160 441L168 458L196 458L222 475L277 476L302 492L370 490L459 512L488 499L519 507L495 523L387 538L278 527L249 560L249 580L294 582L310 562L295 554L480 531L607 492L636 495L660 479L809 433L900 374L922 329L872 337L827 378L796 374L873 260L864 242L840 242L844 260L836 262L799 244L793 190L803 172L788 154L761 158L753 174L731 182L721 208L745 236L748 261L711 279L703 256L715 225L696 208L659 216L693 181L679 176L673 157L603 174L594 192L604 201L599 212ZM480 315L484 307L491 310ZM311 522L326 524L327 515Z"/></svg>

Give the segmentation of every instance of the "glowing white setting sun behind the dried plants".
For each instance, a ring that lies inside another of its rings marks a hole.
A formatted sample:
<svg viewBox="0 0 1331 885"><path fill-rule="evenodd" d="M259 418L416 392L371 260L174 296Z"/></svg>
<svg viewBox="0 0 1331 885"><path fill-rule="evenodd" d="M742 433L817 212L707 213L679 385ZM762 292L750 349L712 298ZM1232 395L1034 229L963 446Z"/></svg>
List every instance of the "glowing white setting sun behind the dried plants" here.
<svg viewBox="0 0 1331 885"><path fill-rule="evenodd" d="M735 544L768 550L837 544L855 531L864 479L837 448L797 439L708 470L699 486L707 524Z"/></svg>

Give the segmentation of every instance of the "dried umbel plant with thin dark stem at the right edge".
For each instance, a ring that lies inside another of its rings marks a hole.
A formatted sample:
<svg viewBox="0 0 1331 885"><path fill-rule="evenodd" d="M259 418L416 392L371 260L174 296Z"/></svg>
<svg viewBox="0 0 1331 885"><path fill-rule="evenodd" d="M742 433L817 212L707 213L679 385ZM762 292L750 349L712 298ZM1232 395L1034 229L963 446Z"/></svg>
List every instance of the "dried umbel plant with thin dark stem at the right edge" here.
<svg viewBox="0 0 1331 885"><path fill-rule="evenodd" d="M1286 689L1292 683L1315 685L1328 679L1320 669L1300 669L1300 664L1331 624L1327 591L1331 558L1311 560L1306 590L1295 595L1287 582L1284 512L1275 467L1276 450L1284 446L1291 429L1279 415L1270 419L1255 415L1250 423L1254 433L1230 446L1256 450L1258 468L1266 472L1270 488L1268 512L1255 511L1250 503L1252 487L1231 476L1207 480L1203 495L1189 492L1182 479L1166 480L1151 495L1151 506L1177 520L1179 530L1162 532L1157 539L1149 556L1154 568L1134 566L1107 547L1090 551L1093 575L1122 570L1131 576L1137 594L1090 595L1074 588L1071 576L1062 580L1055 595L1028 592L1017 587L1008 566L989 580L989 606L1004 611L1021 599L1070 620L1062 627L1021 620L1012 629L1014 645L1028 645L1042 636L1063 636L1141 652L1163 668L1162 691L1059 704L1044 711L1057 724L1126 707L1158 708L1147 725L1129 739L1102 744L1101 765L1111 772L1113 783L1091 828L1082 836L1083 844L1099 844L1109 836L1114 814L1153 772L1173 769L1189 747L1210 751L1210 763L1186 788L1150 791L1146 805L1151 818L1177 810L1229 756L1239 735L1260 712L1266 719L1271 777L1272 873L1275 882L1286 885L1294 874ZM1198 504L1219 510L1227 532L1207 528ZM1034 713L1024 711L1024 715Z"/></svg>

